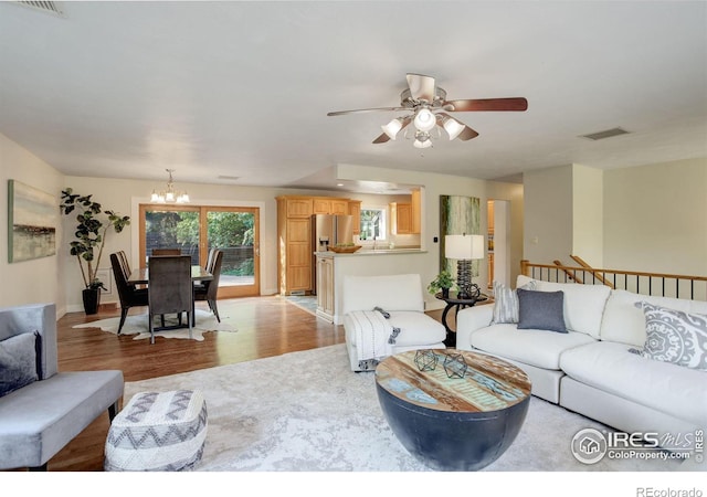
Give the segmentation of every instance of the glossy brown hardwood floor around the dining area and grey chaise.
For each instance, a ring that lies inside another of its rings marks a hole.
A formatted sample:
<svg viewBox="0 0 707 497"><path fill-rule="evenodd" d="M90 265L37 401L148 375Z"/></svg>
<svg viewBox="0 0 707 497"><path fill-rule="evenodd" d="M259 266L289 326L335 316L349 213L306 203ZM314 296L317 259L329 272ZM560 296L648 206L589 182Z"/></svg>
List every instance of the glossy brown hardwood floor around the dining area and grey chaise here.
<svg viewBox="0 0 707 497"><path fill-rule="evenodd" d="M318 319L279 296L238 298L229 300L229 305L235 309L238 332L204 334L203 341L157 337L154 345L98 328L72 328L119 316L118 309L95 316L67 314L57 324L59 369L119 369L125 381L138 381L345 341L342 326ZM198 303L197 308L208 310L205 303ZM133 309L130 315L137 313L138 309ZM429 314L437 320L441 317L441 311ZM49 470L103 470L108 426L106 413L56 454L49 462Z"/></svg>

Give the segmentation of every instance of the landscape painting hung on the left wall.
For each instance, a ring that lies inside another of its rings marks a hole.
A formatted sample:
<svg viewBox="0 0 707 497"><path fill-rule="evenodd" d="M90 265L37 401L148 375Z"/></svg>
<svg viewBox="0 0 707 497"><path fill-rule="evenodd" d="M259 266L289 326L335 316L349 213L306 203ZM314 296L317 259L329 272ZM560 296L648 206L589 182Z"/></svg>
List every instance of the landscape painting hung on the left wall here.
<svg viewBox="0 0 707 497"><path fill-rule="evenodd" d="M59 204L36 188L8 180L8 262L56 253Z"/></svg>

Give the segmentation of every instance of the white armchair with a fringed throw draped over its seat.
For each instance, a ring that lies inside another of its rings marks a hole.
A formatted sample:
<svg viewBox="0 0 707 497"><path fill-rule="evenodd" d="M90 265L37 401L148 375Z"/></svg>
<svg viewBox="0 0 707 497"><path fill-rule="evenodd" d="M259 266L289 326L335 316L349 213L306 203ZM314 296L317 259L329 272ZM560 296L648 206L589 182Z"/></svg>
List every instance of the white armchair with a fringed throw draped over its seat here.
<svg viewBox="0 0 707 497"><path fill-rule="evenodd" d="M372 311L380 307L390 315L384 322L399 328L400 334L390 348L390 353L416 349L443 349L446 330L437 320L424 314L422 281L419 274L381 276L350 276L342 282L342 314L346 348L351 371L367 371L376 367L377 358L359 360L359 345L355 311ZM370 359L370 360L369 360Z"/></svg>

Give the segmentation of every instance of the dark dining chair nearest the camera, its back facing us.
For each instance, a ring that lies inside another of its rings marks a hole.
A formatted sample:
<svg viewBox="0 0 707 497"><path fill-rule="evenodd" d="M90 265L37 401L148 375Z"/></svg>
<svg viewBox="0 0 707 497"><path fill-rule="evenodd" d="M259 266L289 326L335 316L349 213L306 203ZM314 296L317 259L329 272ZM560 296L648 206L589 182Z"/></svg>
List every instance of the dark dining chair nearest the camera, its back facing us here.
<svg viewBox="0 0 707 497"><path fill-rule="evenodd" d="M192 338L194 292L191 283L191 256L150 257L147 261L147 267L150 343L155 343L156 330L184 327L181 324L181 319L177 325L155 327L155 316L160 316L160 319L162 319L167 314L176 314L181 317L181 313L187 313L189 338Z"/></svg>

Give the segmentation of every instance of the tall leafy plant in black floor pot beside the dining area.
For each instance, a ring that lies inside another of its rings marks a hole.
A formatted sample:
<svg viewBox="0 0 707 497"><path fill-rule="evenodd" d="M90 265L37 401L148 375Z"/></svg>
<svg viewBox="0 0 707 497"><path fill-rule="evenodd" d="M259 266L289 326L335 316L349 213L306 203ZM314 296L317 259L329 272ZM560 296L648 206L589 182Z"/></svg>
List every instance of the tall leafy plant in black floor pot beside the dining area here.
<svg viewBox="0 0 707 497"><path fill-rule="evenodd" d="M76 211L76 230L71 242L71 255L75 255L84 279L84 310L86 314L96 314L101 304L101 289L106 289L98 279L97 273L101 266L101 256L106 243L108 230L113 228L120 233L130 224L130 218L118 215L114 211L103 211L98 202L92 200L93 195L78 195L71 188L62 191L60 205L65 215ZM102 215L104 214L104 215ZM107 218L106 218L107 216Z"/></svg>

